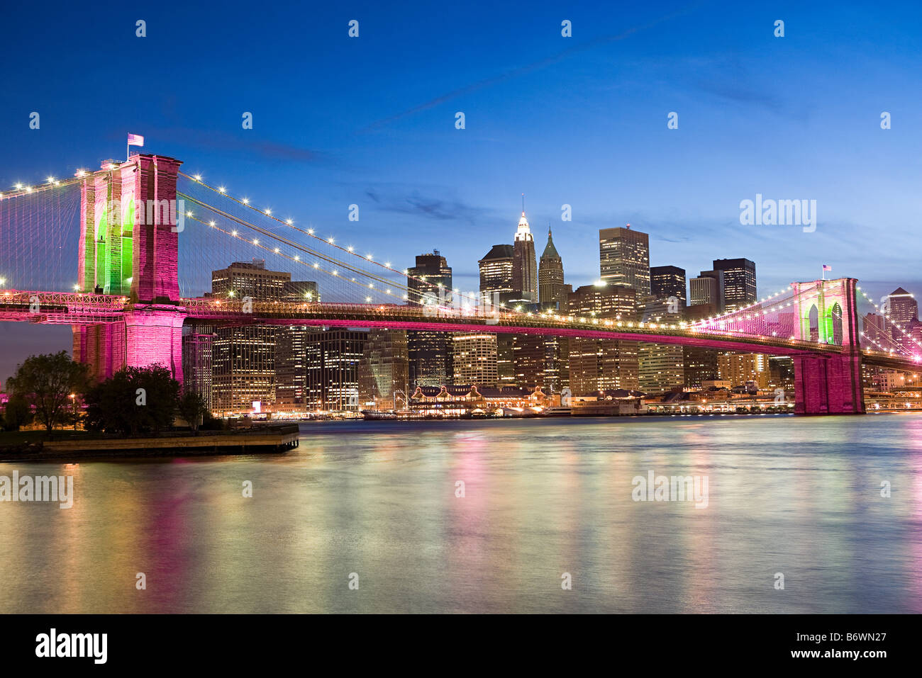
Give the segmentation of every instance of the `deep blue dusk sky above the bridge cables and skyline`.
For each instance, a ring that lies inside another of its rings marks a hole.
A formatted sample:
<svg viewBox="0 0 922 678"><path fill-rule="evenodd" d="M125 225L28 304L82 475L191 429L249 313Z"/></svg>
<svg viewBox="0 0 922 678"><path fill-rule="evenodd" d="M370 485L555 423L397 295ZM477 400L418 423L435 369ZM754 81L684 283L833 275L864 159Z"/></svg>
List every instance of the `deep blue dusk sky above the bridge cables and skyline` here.
<svg viewBox="0 0 922 678"><path fill-rule="evenodd" d="M745 256L760 293L822 263L876 297L922 289L918 3L52 2L6 6L0 45L0 186L121 158L135 132L394 263L437 248L465 288L524 192L574 286L598 275L597 229L630 222L652 264ZM816 231L741 226L756 193L816 200Z"/></svg>

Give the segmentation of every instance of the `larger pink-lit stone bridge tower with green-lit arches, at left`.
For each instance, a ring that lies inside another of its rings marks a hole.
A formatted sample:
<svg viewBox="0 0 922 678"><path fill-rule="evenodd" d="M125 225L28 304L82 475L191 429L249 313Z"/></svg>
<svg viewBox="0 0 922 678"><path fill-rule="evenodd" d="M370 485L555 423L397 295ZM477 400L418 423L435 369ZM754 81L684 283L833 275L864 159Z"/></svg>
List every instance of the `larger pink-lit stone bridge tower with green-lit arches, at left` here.
<svg viewBox="0 0 922 678"><path fill-rule="evenodd" d="M159 364L183 380L176 177L180 160L107 160L82 184L77 280L83 292L123 295L124 320L73 326L74 357L95 380Z"/></svg>

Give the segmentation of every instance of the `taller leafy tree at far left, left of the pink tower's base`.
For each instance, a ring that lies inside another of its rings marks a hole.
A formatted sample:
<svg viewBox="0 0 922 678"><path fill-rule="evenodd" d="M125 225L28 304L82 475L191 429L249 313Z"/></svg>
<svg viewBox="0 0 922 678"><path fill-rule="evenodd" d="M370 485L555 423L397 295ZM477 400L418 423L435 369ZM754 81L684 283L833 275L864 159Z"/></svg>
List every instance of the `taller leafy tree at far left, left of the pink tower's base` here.
<svg viewBox="0 0 922 678"><path fill-rule="evenodd" d="M51 431L67 420L70 394L86 390L87 366L71 360L66 351L30 356L6 381L6 388L23 397L45 430Z"/></svg>

